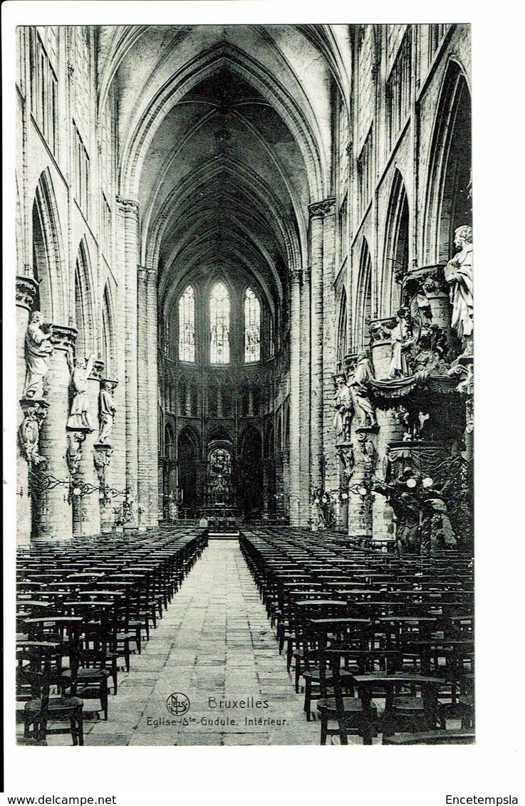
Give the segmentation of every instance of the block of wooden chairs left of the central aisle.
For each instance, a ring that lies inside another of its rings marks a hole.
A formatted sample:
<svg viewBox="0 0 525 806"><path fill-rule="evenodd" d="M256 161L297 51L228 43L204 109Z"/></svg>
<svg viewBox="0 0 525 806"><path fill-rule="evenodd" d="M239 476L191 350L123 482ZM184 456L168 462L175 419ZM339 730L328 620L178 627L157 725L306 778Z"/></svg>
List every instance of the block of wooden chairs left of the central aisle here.
<svg viewBox="0 0 525 806"><path fill-rule="evenodd" d="M135 538L33 545L18 558L17 698L24 743L71 733L83 744L84 700L108 718L108 685L130 670L207 538L162 530ZM59 726L52 727L53 724ZM63 726L69 723L69 726Z"/></svg>

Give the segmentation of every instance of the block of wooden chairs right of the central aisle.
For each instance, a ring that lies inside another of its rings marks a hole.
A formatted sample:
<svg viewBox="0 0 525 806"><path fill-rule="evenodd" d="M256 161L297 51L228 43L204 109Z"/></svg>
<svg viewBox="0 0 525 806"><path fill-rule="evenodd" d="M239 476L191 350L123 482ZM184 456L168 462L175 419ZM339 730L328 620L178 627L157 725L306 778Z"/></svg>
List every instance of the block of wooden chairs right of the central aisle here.
<svg viewBox="0 0 525 806"><path fill-rule="evenodd" d="M241 550L306 719L320 741L357 733L473 730L473 562L458 552L398 558L302 530L253 530ZM381 705L381 713L377 709ZM330 725L335 723L336 727ZM466 731L466 733L465 733Z"/></svg>

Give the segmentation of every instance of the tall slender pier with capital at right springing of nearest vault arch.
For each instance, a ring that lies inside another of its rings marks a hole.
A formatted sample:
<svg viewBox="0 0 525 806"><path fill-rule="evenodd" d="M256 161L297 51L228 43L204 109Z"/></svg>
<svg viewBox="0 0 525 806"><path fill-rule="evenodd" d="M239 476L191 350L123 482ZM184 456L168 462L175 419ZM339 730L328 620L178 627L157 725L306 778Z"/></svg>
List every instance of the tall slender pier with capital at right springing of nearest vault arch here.
<svg viewBox="0 0 525 806"><path fill-rule="evenodd" d="M323 215L310 205L310 484L323 487Z"/></svg>

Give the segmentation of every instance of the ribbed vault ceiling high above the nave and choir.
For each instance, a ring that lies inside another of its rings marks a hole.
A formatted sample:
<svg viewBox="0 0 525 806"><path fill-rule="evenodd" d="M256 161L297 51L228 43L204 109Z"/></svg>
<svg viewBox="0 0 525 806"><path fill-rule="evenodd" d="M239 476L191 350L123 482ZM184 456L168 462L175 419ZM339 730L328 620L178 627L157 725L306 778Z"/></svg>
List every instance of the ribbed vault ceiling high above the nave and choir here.
<svg viewBox="0 0 525 806"><path fill-rule="evenodd" d="M141 260L158 266L165 311L217 272L275 307L306 260L308 205L330 173L331 81L316 39L290 26L101 29L121 193L140 201Z"/></svg>

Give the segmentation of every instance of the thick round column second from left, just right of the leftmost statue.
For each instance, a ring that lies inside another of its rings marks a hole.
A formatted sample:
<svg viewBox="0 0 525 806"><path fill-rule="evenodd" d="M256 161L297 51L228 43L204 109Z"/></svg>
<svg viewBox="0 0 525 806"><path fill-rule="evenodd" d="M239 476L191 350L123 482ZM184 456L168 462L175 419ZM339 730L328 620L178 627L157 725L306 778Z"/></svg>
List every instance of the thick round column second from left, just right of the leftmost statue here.
<svg viewBox="0 0 525 806"><path fill-rule="evenodd" d="M67 540L73 534L65 426L69 417L70 363L76 338L74 327L53 325L54 351L45 377L49 408L40 436L41 452L47 465L39 474L40 505L33 519L35 538Z"/></svg>

